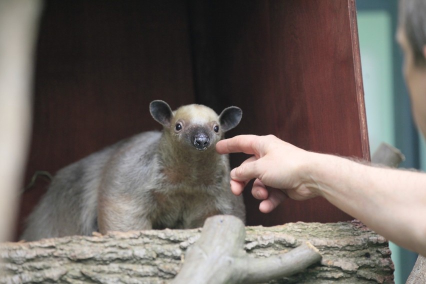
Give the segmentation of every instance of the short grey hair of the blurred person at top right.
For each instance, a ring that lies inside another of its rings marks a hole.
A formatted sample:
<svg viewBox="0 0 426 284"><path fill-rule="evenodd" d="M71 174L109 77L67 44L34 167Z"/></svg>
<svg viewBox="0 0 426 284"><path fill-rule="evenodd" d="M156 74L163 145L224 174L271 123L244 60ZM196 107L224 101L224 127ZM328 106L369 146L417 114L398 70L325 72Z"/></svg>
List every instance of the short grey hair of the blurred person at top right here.
<svg viewBox="0 0 426 284"><path fill-rule="evenodd" d="M426 67L423 46L426 45L426 0L400 0L399 26L414 54L414 64Z"/></svg>

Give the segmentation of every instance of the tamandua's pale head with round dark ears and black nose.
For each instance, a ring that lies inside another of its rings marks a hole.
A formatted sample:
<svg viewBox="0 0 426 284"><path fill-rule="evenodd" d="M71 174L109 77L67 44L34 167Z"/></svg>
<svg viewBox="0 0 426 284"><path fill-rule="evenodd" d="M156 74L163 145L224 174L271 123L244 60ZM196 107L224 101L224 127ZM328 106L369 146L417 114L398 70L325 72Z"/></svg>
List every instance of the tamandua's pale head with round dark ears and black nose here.
<svg viewBox="0 0 426 284"><path fill-rule="evenodd" d="M226 107L219 115L202 104L183 105L172 111L162 100L152 101L149 111L173 141L199 151L214 148L224 132L235 127L242 116L242 110L236 106Z"/></svg>

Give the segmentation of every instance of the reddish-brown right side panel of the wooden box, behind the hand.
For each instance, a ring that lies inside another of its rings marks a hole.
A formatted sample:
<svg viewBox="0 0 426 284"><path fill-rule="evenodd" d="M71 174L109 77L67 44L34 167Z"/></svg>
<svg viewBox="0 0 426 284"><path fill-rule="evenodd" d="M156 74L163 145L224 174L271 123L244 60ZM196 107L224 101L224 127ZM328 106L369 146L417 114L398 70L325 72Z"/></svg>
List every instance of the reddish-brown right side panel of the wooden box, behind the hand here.
<svg viewBox="0 0 426 284"><path fill-rule="evenodd" d="M218 108L243 109L231 134L369 158L352 0L193 1L191 19L197 98L215 93ZM321 198L262 214L249 189L244 196L250 225L351 219Z"/></svg>

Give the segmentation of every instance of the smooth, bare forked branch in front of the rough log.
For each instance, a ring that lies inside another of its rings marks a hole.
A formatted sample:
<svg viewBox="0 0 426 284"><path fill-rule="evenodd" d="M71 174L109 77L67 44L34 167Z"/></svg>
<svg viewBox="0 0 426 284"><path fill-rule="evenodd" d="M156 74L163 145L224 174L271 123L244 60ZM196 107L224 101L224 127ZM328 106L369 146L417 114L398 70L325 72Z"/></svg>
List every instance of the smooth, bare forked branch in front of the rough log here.
<svg viewBox="0 0 426 284"><path fill-rule="evenodd" d="M309 242L284 254L247 257L244 239L244 223L239 218L207 218L172 284L261 283L290 276L321 260L321 254Z"/></svg>

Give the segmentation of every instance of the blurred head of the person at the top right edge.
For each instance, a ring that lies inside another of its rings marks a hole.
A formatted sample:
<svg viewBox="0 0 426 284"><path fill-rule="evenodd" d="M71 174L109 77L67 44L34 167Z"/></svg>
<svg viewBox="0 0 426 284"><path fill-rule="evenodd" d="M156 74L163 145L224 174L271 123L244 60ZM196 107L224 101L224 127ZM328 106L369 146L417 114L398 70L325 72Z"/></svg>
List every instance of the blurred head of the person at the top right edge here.
<svg viewBox="0 0 426 284"><path fill-rule="evenodd" d="M396 39L404 55L403 73L411 109L426 136L426 0L400 0Z"/></svg>

